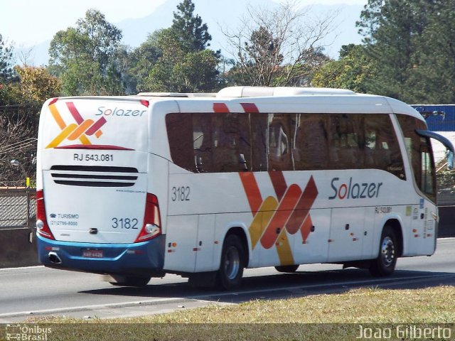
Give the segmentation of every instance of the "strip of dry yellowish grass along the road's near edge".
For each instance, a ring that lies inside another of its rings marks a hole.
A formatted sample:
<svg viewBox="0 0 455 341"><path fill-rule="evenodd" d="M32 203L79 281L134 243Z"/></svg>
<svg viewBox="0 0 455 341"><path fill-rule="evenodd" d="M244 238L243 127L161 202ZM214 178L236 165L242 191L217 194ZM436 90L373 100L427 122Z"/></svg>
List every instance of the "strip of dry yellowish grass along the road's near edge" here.
<svg viewBox="0 0 455 341"><path fill-rule="evenodd" d="M453 286L419 290L362 288L287 300L209 305L140 318L90 322L40 318L28 322L53 323L62 336L58 340L352 340L359 324L382 324L381 328L453 324L454 303Z"/></svg>

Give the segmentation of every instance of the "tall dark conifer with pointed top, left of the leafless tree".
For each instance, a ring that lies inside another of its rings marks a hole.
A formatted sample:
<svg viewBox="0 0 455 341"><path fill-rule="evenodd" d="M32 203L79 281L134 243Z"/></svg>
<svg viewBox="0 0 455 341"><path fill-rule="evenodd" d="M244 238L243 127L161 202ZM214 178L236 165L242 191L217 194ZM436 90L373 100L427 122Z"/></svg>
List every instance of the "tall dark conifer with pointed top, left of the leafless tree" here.
<svg viewBox="0 0 455 341"><path fill-rule="evenodd" d="M207 48L212 36L208 33L207 24L202 23L198 15L194 15L194 4L191 0L183 0L173 12L171 31L188 52L201 51Z"/></svg>

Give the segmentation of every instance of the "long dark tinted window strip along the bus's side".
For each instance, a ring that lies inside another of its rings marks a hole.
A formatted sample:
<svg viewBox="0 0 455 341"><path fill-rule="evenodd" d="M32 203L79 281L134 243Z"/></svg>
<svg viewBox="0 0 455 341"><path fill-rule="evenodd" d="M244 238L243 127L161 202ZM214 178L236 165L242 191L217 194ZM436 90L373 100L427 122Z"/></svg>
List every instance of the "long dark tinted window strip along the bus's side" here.
<svg viewBox="0 0 455 341"><path fill-rule="evenodd" d="M384 114L168 114L166 124L173 161L197 173L378 168L405 179Z"/></svg>

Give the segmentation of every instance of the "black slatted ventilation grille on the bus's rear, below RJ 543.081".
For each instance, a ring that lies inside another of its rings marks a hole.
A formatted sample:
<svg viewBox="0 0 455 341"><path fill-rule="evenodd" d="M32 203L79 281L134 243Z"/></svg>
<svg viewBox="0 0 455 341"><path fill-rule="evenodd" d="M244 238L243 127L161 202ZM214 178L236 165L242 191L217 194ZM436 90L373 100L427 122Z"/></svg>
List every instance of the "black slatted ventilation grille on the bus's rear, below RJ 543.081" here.
<svg viewBox="0 0 455 341"><path fill-rule="evenodd" d="M52 166L54 183L85 187L131 187L139 172L132 167Z"/></svg>

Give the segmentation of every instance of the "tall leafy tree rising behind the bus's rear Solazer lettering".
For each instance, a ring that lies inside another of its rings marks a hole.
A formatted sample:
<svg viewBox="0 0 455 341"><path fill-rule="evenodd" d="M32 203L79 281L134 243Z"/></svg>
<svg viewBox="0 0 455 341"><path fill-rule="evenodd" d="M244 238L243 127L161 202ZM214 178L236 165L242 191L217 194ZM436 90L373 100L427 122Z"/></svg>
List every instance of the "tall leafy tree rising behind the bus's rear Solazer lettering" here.
<svg viewBox="0 0 455 341"><path fill-rule="evenodd" d="M123 91L114 54L122 32L94 9L75 28L59 31L50 42L50 71L60 77L63 94L119 94ZM109 71L109 72L108 72Z"/></svg>

